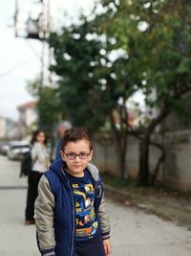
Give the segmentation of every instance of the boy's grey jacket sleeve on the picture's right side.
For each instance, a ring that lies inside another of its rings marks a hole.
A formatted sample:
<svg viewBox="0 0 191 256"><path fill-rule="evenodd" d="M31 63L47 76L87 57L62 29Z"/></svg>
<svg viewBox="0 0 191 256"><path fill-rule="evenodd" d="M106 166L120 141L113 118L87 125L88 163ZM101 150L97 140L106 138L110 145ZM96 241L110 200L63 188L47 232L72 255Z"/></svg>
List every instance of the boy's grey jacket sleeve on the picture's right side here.
<svg viewBox="0 0 191 256"><path fill-rule="evenodd" d="M101 199L101 203L98 209L98 218L99 218L100 227L101 227L102 239L105 240L110 238L110 220L107 214L104 195L103 195L103 198Z"/></svg>

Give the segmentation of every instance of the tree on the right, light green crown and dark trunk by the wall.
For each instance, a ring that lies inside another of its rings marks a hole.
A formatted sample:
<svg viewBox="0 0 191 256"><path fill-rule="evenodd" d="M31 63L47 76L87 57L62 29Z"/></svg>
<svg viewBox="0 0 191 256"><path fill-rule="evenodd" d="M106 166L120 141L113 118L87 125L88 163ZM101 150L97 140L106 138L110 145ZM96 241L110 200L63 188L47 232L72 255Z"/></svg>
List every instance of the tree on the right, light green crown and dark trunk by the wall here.
<svg viewBox="0 0 191 256"><path fill-rule="evenodd" d="M155 180L165 155L162 146L152 140L152 135L172 111L184 112L183 96L191 90L191 3L180 0L101 2L113 20L111 26L110 20L105 19L104 31L108 36L116 35L118 46L127 51L130 62L134 61L131 54L132 49L135 50L143 75L138 77L139 84L144 85L141 89L146 105L159 109L154 118L133 132L140 139L138 182L148 185ZM133 48L132 37L136 44ZM135 68L134 73L137 76L138 69ZM150 97L153 90L156 99ZM149 167L150 145L161 150L153 177Z"/></svg>

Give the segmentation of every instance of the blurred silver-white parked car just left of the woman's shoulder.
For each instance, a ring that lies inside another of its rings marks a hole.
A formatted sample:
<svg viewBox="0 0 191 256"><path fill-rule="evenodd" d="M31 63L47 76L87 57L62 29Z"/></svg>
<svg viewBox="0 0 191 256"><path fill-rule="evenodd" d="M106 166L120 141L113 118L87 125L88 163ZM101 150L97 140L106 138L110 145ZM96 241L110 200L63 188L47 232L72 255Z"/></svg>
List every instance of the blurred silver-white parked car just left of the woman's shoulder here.
<svg viewBox="0 0 191 256"><path fill-rule="evenodd" d="M9 160L20 160L23 155L30 151L30 144L26 141L13 141L10 143L10 149L7 152Z"/></svg>

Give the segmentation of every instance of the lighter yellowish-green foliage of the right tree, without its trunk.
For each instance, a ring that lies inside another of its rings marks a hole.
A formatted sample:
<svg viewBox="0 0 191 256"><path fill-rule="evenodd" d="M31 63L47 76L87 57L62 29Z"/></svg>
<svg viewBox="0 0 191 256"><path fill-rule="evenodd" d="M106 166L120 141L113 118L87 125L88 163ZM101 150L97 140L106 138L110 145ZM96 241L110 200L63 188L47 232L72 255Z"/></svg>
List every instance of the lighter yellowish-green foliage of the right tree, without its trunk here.
<svg viewBox="0 0 191 256"><path fill-rule="evenodd" d="M190 1L101 2L108 10L106 13L110 13L108 17L112 16L113 9L112 21L103 18L105 23L101 29L108 36L116 37L117 47L126 50L128 78L132 73L138 78L137 84L146 96L147 105L159 108L165 105L170 111L176 111L177 98L191 89ZM145 74L144 78L141 74ZM140 86L141 80L146 81L145 86ZM151 101L148 96L153 88L157 99Z"/></svg>

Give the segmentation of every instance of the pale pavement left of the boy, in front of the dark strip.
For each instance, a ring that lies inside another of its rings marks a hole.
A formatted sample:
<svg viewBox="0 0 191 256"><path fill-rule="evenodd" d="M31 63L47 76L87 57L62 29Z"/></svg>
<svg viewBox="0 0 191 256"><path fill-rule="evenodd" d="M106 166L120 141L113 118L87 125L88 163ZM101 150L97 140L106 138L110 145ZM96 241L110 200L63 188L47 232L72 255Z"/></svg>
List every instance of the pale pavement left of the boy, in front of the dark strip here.
<svg viewBox="0 0 191 256"><path fill-rule="evenodd" d="M0 191L0 255L39 256L34 226L24 225L27 190Z"/></svg>

